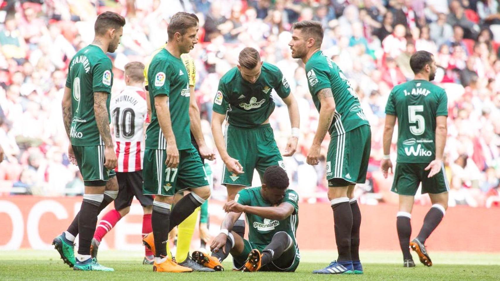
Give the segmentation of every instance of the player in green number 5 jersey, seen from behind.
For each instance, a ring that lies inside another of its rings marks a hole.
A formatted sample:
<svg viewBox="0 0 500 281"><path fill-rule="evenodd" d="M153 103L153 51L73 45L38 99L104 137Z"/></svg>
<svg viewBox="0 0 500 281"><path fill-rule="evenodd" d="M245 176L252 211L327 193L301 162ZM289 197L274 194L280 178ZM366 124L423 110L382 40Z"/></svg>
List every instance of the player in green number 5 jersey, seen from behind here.
<svg viewBox="0 0 500 281"><path fill-rule="evenodd" d="M385 106L383 132L383 176L392 172L390 143L397 119L397 159L392 192L399 194L399 212L396 226L399 245L403 253L403 266L414 267L409 247L427 267L432 262L425 250L425 240L441 222L448 207L449 185L444 174L442 154L446 143L447 97L443 88L430 81L434 79L436 63L431 53L415 52L409 64L415 78L395 86ZM422 194L428 193L432 207L423 220L418 236L409 242L411 235L411 209L419 184Z"/></svg>

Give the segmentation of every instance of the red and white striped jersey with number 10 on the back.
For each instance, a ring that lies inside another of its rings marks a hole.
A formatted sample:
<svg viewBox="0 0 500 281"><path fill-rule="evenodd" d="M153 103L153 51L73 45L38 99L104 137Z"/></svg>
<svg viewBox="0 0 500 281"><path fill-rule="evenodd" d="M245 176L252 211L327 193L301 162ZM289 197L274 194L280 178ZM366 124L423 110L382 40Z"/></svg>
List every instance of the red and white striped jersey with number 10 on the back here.
<svg viewBox="0 0 500 281"><path fill-rule="evenodd" d="M114 127L116 172L142 170L144 156L144 121L147 115L146 95L141 88L126 86L109 104Z"/></svg>

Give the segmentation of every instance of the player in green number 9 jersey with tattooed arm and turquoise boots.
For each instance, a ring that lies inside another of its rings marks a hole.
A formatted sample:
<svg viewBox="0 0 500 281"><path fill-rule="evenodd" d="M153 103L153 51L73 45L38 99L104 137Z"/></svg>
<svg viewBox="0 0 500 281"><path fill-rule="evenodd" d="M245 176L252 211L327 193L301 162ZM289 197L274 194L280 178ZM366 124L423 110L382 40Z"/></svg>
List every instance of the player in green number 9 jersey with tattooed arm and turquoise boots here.
<svg viewBox="0 0 500 281"><path fill-rule="evenodd" d="M62 115L71 141L68 156L80 169L85 191L80 211L67 231L52 244L64 263L74 270L113 271L91 258L90 243L97 215L118 193L113 170L116 154L109 130L113 73L106 52L114 52L118 47L123 25L125 19L115 12L99 14L93 42L79 50L69 63ZM79 257L75 260L72 251L76 234L79 234Z"/></svg>

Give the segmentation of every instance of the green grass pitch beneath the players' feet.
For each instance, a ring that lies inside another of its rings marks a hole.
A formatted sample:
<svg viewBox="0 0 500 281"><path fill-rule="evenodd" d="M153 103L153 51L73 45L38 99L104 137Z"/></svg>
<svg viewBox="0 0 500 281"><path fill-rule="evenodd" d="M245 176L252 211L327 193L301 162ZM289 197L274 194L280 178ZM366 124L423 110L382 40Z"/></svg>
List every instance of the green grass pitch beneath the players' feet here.
<svg viewBox="0 0 500 281"><path fill-rule="evenodd" d="M0 251L0 280L85 280L85 281L124 281L124 280L247 280L263 279L272 281L295 280L460 280L484 281L500 280L500 254L486 253L429 253L434 266L424 267L418 263L416 268L402 268L399 252L362 252L361 261L364 275L324 276L313 275L312 270L326 266L334 253L331 251L301 252L300 265L295 273L185 273L165 274L152 272L152 266L143 266L141 252L102 251L99 262L114 268L114 273L74 272L64 265L55 250L53 251ZM418 261L414 256L415 262ZM229 262L224 263L226 270L231 269Z"/></svg>

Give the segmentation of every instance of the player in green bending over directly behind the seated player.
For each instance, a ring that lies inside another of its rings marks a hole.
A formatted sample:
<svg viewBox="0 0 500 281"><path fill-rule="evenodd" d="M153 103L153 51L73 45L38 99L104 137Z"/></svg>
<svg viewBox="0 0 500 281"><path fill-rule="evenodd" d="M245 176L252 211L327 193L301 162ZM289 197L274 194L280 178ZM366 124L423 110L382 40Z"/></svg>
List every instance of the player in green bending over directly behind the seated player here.
<svg viewBox="0 0 500 281"><path fill-rule="evenodd" d="M269 124L275 106L271 97L273 89L288 107L291 136L283 156L291 156L298 140L298 106L279 68L262 62L258 51L247 47L239 53L237 67L220 78L211 125L215 146L224 162L222 184L227 188L228 201L234 200L244 187L251 186L254 169L260 179L267 167L278 165L285 169ZM222 134L224 120L226 126ZM243 237L243 218L236 222L233 230Z"/></svg>

